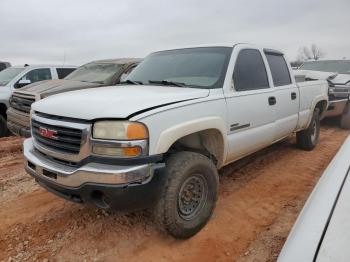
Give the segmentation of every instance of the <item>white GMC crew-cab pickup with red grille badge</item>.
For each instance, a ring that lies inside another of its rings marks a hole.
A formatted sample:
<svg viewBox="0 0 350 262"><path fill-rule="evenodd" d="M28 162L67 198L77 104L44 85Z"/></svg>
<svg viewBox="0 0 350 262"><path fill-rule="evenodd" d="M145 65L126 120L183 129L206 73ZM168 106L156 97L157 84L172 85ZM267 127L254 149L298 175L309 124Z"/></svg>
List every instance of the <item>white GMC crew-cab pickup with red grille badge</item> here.
<svg viewBox="0 0 350 262"><path fill-rule="evenodd" d="M161 228L188 238L211 217L218 169L293 133L316 146L327 92L326 81L296 84L276 50L155 52L120 86L34 103L25 169L75 202L152 207Z"/></svg>

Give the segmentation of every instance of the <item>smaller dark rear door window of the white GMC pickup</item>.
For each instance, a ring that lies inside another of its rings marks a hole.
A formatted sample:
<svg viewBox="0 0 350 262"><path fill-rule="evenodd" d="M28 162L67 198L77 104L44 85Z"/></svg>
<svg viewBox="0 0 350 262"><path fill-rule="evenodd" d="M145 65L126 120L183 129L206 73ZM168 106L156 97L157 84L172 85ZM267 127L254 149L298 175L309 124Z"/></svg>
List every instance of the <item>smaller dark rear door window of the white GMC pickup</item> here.
<svg viewBox="0 0 350 262"><path fill-rule="evenodd" d="M266 53L274 86L284 86L292 83L286 60L282 54Z"/></svg>

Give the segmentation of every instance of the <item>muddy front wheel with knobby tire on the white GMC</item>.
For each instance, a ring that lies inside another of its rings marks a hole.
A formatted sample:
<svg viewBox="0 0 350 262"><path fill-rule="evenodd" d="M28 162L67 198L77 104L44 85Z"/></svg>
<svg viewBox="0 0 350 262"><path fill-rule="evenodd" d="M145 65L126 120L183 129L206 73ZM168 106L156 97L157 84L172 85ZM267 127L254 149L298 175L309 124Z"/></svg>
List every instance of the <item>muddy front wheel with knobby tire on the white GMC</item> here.
<svg viewBox="0 0 350 262"><path fill-rule="evenodd" d="M175 238L189 238L210 219L218 195L219 177L202 154L178 152L166 161L165 185L155 207L158 224Z"/></svg>

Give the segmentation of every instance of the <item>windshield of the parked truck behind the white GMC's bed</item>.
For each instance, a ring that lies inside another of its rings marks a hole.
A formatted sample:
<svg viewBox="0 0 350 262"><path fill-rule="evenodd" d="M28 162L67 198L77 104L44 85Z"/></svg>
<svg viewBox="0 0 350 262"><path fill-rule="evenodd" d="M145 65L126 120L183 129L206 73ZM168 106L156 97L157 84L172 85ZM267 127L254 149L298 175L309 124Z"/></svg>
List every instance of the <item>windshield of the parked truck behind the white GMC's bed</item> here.
<svg viewBox="0 0 350 262"><path fill-rule="evenodd" d="M322 72L334 72L338 74L350 75L350 61L349 60L332 60L332 61L313 61L305 62L299 68L301 70L312 70Z"/></svg>

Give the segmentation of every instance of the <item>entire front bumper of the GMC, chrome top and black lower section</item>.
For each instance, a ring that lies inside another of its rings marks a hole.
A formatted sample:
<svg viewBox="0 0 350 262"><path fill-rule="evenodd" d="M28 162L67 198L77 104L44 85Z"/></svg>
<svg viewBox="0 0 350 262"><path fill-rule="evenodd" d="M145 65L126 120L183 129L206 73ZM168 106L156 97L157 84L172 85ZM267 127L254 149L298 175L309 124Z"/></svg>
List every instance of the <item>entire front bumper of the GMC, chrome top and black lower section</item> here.
<svg viewBox="0 0 350 262"><path fill-rule="evenodd" d="M159 195L164 164L68 166L43 156L31 139L24 141L23 152L27 173L48 191L74 202L135 210L149 207Z"/></svg>

